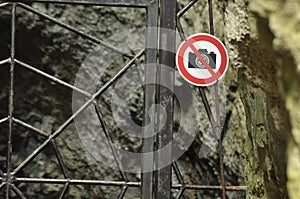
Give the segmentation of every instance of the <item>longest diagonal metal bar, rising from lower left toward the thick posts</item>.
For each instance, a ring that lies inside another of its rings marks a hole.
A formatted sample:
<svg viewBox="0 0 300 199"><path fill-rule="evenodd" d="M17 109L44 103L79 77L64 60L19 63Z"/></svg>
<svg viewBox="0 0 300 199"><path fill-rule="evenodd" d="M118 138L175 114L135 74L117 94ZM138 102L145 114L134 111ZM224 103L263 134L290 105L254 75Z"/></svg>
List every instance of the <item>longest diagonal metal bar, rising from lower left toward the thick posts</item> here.
<svg viewBox="0 0 300 199"><path fill-rule="evenodd" d="M65 128L67 128L75 117L77 117L83 110L85 110L90 104L92 104L96 97L101 95L106 89L108 89L117 79L119 79L134 63L144 54L144 50L141 50L132 60L130 60L113 78L110 79L102 88L100 88L91 99L83 104L69 119L67 119L49 138L44 141L35 151L33 151L15 170L14 174L23 169L30 161L32 161L50 142L56 138Z"/></svg>

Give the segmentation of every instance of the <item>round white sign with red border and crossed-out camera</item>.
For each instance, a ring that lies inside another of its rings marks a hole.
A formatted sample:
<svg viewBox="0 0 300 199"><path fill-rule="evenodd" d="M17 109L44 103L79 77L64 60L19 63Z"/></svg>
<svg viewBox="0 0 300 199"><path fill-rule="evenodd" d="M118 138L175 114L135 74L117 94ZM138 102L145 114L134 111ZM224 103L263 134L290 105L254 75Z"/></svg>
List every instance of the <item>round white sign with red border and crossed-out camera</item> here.
<svg viewBox="0 0 300 199"><path fill-rule="evenodd" d="M209 86L220 80L228 69L228 53L215 36L199 33L182 42L176 65L181 76L196 86Z"/></svg>

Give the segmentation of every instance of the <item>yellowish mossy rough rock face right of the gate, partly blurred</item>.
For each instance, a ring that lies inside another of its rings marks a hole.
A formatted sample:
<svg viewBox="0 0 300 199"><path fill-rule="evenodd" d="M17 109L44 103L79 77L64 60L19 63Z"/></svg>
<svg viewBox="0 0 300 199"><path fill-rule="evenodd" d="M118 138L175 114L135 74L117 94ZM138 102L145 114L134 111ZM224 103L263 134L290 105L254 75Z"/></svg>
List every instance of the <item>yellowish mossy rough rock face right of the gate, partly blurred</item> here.
<svg viewBox="0 0 300 199"><path fill-rule="evenodd" d="M225 35L246 113L248 198L299 198L299 6L225 3Z"/></svg>

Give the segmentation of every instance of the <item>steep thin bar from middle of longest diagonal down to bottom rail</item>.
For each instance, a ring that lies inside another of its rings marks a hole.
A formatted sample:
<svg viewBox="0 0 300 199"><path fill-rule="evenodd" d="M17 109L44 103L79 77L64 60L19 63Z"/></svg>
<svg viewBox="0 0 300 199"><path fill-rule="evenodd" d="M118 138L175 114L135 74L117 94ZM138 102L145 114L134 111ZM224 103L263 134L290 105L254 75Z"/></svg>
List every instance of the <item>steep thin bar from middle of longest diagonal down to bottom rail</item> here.
<svg viewBox="0 0 300 199"><path fill-rule="evenodd" d="M101 114L101 111L100 111L100 108L99 108L99 105L97 104L97 102L94 103L94 106L95 106L95 110L96 110L96 113L97 113L97 117L98 117L98 119L99 119L99 121L101 123L101 127L103 129L104 135L105 135L105 137L106 137L106 139L108 141L109 148L110 148L111 152L113 153L114 159L115 159L115 161L117 163L117 167L118 167L118 170L120 172L120 175L121 175L122 179L125 182L127 182L128 181L127 180L127 176L126 176L126 174L124 172L124 169L123 169L123 166L122 166L119 154L118 154L116 148L114 147L113 141L112 141L112 139L111 139L111 137L109 135L108 128L107 128L107 126L106 126L106 124L104 122L103 116Z"/></svg>

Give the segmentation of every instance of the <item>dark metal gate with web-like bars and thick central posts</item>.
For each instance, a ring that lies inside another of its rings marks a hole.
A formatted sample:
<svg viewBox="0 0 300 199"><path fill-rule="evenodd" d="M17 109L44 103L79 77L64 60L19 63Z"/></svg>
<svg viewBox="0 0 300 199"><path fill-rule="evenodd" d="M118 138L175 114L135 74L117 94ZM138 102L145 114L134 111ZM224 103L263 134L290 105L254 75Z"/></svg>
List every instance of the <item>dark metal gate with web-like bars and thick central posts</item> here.
<svg viewBox="0 0 300 199"><path fill-rule="evenodd" d="M147 26L148 27L160 27L160 31L158 29L147 29L147 39L145 49L137 53L135 56L120 52L120 50L114 48L113 46L99 40L96 37L93 37L89 34L86 34L70 25L67 25L43 12L40 12L33 7L27 5L26 3L39 2L39 3L62 3L62 4L80 4L85 6L123 6L123 7L136 7L140 9L146 9L147 13ZM64 195L68 191L68 187L71 184L91 184L98 186L119 186L121 187L121 192L119 194L119 198L123 198L126 195L126 191L128 187L140 187L141 188L141 198L150 199L150 198L158 198L158 199L167 199L171 198L171 190L177 189L179 190L176 198L181 198L185 190L193 189L193 190L213 190L213 191L221 191L222 198L226 198L226 192L228 191L245 191L245 186L226 186L226 182L224 179L224 169L223 169L223 155L222 155L222 142L219 142L219 176L220 176L220 184L219 185L197 185L197 184L188 184L184 181L183 176L180 172L180 169L177 166L176 161L171 165L158 169L154 172L142 173L140 182L132 182L129 181L126 177L126 173L120 169L120 174L122 176L122 181L105 181L105 180L83 180L83 179L71 179L67 172L66 167L64 165L64 161L60 150L56 144L56 138L60 136L65 128L73 121L73 119L86 107L95 106L97 111L98 119L100 120L103 130L105 132L105 136L108 139L108 143L112 145L112 140L110 138L109 132L106 128L105 121L103 120L101 110L99 107L94 105L94 100L96 97L101 95L107 88L109 88L118 78L120 78L126 71L134 65L136 60L143 54L146 55L146 60L148 63L159 63L162 65L167 65L169 67L175 67L175 59L174 52L176 50L175 39L176 39L176 29L178 30L180 37L182 40L185 40L185 34L183 28L180 23L180 18L195 4L197 0L191 0L186 4L186 6L178 10L177 2L175 0L23 0L23 1L11 1L4 2L0 4L0 9L11 8L11 44L10 44L10 57L6 60L1 60L0 65L9 64L10 65L10 87L9 87L9 110L8 116L5 118L0 118L0 124L7 123L9 127L9 132L7 133L8 142L7 142L7 158L6 158L6 170L0 170L1 176L1 185L0 189L2 192L5 192L6 198L11 198L11 193L14 192L19 198L26 198L26 194L22 193L20 189L16 186L16 183L51 183L51 184L63 184L64 188L61 190L60 197L63 198ZM213 2L212 0L208 0L209 4L209 19L210 19L210 33L214 34L214 22L213 22ZM26 64L20 60L15 55L15 31L16 31L16 7L20 7L27 12L33 13L34 15L38 15L64 29L67 29L73 33L78 34L79 36L92 41L96 44L103 45L117 53L122 54L124 57L128 59L128 64L124 66L112 79L110 79L101 89L99 89L93 95L87 94L86 91L83 91L75 86L64 82L61 79L58 79L46 72L43 72L29 64ZM172 30L166 31L166 30ZM148 46L152 46L152 48L148 48ZM154 46L154 47L153 47ZM162 46L168 46L170 51L161 50ZM87 95L88 101L80 108L77 112L75 112L68 120L66 120L54 133L49 134L44 132L26 122L18 120L14 117L14 71L16 65L20 65L25 67L36 74L49 79L50 81L55 82L58 85L64 86L66 88L72 89L78 93L83 95ZM143 139L143 151L153 151L155 147L160 147L168 144L172 140L173 136L173 104L174 104L174 96L168 89L165 87L159 86L162 84L172 86L174 84L174 74L168 70L164 70L159 65L155 67L147 67L146 68L146 78L147 77L156 77L156 83L158 86L147 86L145 87L145 98L144 98L144 122L147 120L153 119L153 121L157 121L157 117L159 113L152 114L153 118L148 118L149 109L153 104L160 104L161 101L165 98L170 99L168 103L165 105L166 107L166 128L163 128L162 131L158 133L157 136L145 138ZM163 78L160 78L163 77ZM146 80L147 82L147 80ZM218 86L214 86L215 89L215 101L218 100ZM222 129L220 128L220 113L218 113L218 105L216 107L216 118L214 118L212 114L212 110L208 104L206 94L204 89L200 88L199 93L203 100L205 111L208 115L208 118L211 122L213 130L216 134L220 133ZM11 159L12 159L12 133L13 133L13 124L17 124L28 128L41 137L45 138L44 142L37 147L23 162L21 162L16 168L12 168ZM147 133L147 132L146 132ZM151 133L151 132L149 132ZM57 160L61 167L61 170L64 175L64 179L43 179L43 178L24 178L20 176L20 172L24 169L36 156L44 150L48 145L54 148ZM122 164L119 160L118 154L112 149L112 155L114 156L117 165L121 168ZM142 167L146 167L150 165L150 167L155 167L156 164L159 164L157 161L163 159L170 159L172 151L169 150L168 153L164 154L165 157L144 157L142 161ZM168 157L169 156L169 157ZM172 183L172 169L178 178L179 184ZM155 169L154 169L155 170Z"/></svg>

